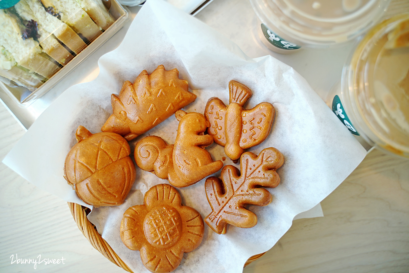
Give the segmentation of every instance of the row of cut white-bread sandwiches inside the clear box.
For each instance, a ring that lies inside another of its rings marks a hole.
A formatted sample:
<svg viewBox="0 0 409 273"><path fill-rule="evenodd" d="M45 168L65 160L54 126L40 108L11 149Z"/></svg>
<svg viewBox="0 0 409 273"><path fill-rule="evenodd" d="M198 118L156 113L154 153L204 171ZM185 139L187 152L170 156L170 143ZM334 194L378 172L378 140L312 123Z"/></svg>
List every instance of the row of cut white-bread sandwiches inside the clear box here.
<svg viewBox="0 0 409 273"><path fill-rule="evenodd" d="M101 0L20 0L0 10L0 80L34 91L114 21Z"/></svg>

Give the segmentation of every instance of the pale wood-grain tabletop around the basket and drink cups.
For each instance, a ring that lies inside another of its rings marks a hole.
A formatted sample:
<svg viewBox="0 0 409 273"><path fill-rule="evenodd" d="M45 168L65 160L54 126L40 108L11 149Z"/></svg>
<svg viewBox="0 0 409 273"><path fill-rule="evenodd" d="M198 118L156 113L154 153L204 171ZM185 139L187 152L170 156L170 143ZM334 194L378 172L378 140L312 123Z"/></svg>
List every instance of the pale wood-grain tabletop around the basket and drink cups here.
<svg viewBox="0 0 409 273"><path fill-rule="evenodd" d="M393 1L396 13L407 0ZM138 8L130 8L135 16ZM272 55L292 66L325 98L339 80L353 48L304 50L279 55L254 38L256 16L248 0L214 0L196 17L238 44L250 57ZM121 39L126 27L114 36ZM122 36L121 36L122 35ZM112 39L111 39L112 40ZM50 91L93 80L108 41ZM87 71L87 73L84 73ZM0 104L0 160L25 130ZM317 174L319 175L319 174ZM67 203L38 189L0 164L0 272L125 272L85 239ZM353 173L321 202L324 217L299 219L246 273L409 272L409 160L370 152ZM60 264L17 264L17 259L61 259ZM14 261L14 262L13 262ZM11 264L13 262L13 264Z"/></svg>

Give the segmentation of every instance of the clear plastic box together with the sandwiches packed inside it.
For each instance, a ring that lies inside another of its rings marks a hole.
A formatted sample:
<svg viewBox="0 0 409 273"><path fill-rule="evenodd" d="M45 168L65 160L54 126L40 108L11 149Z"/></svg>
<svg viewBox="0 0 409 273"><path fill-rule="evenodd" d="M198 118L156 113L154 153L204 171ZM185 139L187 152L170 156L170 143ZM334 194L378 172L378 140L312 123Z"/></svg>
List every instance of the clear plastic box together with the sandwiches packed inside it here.
<svg viewBox="0 0 409 273"><path fill-rule="evenodd" d="M0 88L20 107L39 98L128 19L115 0L20 0L0 9Z"/></svg>

